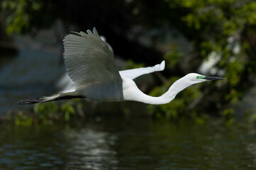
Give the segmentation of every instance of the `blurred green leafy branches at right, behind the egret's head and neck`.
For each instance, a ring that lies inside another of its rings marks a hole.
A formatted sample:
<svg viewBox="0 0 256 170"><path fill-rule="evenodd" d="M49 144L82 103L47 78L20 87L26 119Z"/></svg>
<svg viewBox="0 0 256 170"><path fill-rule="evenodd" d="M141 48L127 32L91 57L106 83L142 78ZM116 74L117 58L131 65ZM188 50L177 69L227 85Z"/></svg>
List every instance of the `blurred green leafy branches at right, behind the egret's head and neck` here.
<svg viewBox="0 0 256 170"><path fill-rule="evenodd" d="M176 26L183 35L191 41L195 54L191 64L206 60L210 53L215 52L220 56L220 60L215 67L222 69L227 81L214 84L213 86L202 86L203 89L215 89L220 93L215 93L215 106L206 103L213 98L210 94L205 94L198 107L189 109L198 113L203 109L221 108L225 103L235 103L242 98L243 91L250 86L250 77L255 77L255 24L256 24L256 2L255 1L171 1L166 0L170 10L173 10L178 17L170 23ZM167 21L167 20L166 20ZM176 21L176 23L174 23ZM253 37L253 38L252 38ZM174 62L166 62L166 67L174 67L178 64L179 55L166 52L165 58ZM185 75L186 72L183 73ZM171 81L170 78L169 81ZM170 85L170 84L169 84ZM193 103L202 92L193 86L185 90L183 94L178 94L174 101L164 106L149 106L151 114L156 117L176 118L177 115L188 113L189 103ZM161 94L168 88L164 86L155 88L151 94ZM193 93L191 93L193 91ZM160 93L161 92L161 93ZM189 94L191 93L191 94ZM220 104L221 103L221 104ZM221 105L221 106L220 106ZM200 106L200 107L199 107ZM213 111L213 110L212 110ZM227 124L233 123L233 110L225 109L223 117Z"/></svg>

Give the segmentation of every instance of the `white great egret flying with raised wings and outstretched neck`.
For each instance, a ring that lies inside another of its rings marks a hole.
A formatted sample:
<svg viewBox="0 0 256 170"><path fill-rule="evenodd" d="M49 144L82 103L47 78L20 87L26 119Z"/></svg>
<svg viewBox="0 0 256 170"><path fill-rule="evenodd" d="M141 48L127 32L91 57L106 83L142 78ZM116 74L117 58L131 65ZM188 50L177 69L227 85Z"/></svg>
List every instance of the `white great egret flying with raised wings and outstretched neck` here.
<svg viewBox="0 0 256 170"><path fill-rule="evenodd" d="M92 33L93 32L93 33ZM169 103L192 84L208 80L221 80L221 77L207 77L190 73L178 79L169 90L159 97L148 96L140 91L133 79L164 70L165 62L154 67L128 69L118 72L112 49L100 38L96 28L87 33L66 35L64 44L65 69L73 83L64 91L53 96L28 98L18 104L42 103L68 98L91 98L98 101L139 101L149 104Z"/></svg>

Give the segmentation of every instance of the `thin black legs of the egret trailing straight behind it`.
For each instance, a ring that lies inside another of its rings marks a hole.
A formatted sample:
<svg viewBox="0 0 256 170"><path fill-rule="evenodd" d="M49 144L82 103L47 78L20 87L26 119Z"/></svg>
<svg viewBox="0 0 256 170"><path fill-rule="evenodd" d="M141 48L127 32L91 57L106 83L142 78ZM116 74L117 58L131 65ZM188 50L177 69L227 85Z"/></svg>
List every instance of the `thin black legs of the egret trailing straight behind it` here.
<svg viewBox="0 0 256 170"><path fill-rule="evenodd" d="M48 101L60 101L60 100L65 100L65 99L71 99L71 98L85 98L85 96L63 96L61 94L56 94L53 96L48 96L48 97L42 97L42 98L28 98L25 100L18 101L17 104L34 104L34 103L43 103L43 102L48 102Z"/></svg>

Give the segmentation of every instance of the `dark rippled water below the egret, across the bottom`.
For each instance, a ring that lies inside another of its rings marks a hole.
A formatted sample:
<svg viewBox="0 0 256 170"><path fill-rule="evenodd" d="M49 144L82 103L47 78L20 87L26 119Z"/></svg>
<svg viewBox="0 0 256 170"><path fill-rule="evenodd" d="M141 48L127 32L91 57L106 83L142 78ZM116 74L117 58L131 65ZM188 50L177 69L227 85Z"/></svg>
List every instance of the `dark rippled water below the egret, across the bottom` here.
<svg viewBox="0 0 256 170"><path fill-rule="evenodd" d="M216 121L1 124L0 169L255 169L255 127Z"/></svg>

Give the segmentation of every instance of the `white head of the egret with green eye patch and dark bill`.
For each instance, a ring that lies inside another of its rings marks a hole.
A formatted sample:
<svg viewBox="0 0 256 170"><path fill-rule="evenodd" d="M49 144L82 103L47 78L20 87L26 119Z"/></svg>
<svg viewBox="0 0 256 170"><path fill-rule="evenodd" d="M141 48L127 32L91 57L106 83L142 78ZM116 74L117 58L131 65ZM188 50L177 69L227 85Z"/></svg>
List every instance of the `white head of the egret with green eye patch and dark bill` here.
<svg viewBox="0 0 256 170"><path fill-rule="evenodd" d="M203 75L197 74L197 73L186 74L186 76L183 77L183 78L186 79L186 81L189 81L190 84L198 84L198 83L201 83L203 81L223 80L223 79L225 79L223 77L203 76Z"/></svg>

